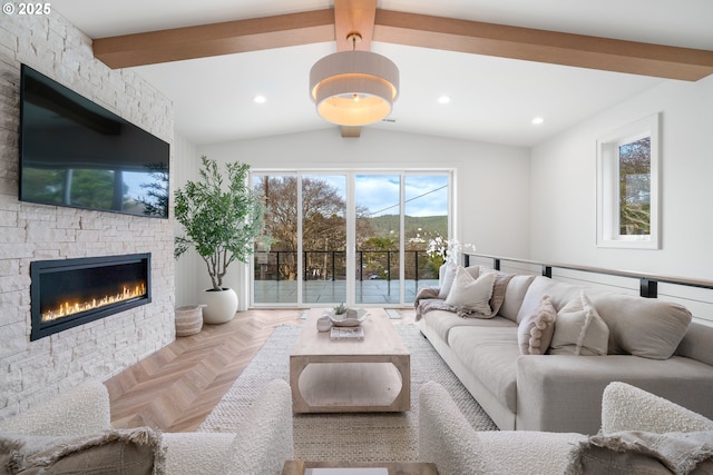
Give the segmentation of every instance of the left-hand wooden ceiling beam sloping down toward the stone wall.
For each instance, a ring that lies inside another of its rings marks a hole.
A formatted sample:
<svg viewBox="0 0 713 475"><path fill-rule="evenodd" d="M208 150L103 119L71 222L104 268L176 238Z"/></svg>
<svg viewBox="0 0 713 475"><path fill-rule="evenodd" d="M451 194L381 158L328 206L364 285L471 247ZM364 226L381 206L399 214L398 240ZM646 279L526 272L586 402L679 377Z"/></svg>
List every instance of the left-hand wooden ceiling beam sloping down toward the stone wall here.
<svg viewBox="0 0 713 475"><path fill-rule="evenodd" d="M113 69L334 41L334 10L252 18L94 40Z"/></svg>

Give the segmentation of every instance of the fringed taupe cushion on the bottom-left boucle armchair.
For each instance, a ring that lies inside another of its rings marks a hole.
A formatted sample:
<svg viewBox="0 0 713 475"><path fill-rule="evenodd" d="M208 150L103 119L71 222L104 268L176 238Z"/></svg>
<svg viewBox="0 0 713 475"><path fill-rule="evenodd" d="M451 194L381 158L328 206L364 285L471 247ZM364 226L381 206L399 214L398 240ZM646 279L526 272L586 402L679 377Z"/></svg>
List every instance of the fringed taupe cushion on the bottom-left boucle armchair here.
<svg viewBox="0 0 713 475"><path fill-rule="evenodd" d="M0 435L13 474L164 474L160 434L148 427L71 436Z"/></svg>

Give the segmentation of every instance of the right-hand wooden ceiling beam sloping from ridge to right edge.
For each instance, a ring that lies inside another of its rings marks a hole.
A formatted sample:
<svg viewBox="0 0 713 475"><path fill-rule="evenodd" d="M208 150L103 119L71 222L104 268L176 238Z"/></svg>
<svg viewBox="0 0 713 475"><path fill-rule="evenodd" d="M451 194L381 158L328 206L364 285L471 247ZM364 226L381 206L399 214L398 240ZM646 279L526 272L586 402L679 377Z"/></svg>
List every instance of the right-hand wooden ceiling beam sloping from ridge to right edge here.
<svg viewBox="0 0 713 475"><path fill-rule="evenodd" d="M713 51L377 10L374 41L696 81Z"/></svg>

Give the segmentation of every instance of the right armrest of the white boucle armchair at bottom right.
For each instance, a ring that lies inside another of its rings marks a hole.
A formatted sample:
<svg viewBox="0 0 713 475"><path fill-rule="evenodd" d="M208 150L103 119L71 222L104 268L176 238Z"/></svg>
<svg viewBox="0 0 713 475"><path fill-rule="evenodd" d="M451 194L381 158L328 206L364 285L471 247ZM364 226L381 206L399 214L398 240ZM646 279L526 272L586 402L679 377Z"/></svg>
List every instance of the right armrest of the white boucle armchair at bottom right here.
<svg viewBox="0 0 713 475"><path fill-rule="evenodd" d="M611 383L602 396L602 432L713 431L713 420L626 383Z"/></svg>

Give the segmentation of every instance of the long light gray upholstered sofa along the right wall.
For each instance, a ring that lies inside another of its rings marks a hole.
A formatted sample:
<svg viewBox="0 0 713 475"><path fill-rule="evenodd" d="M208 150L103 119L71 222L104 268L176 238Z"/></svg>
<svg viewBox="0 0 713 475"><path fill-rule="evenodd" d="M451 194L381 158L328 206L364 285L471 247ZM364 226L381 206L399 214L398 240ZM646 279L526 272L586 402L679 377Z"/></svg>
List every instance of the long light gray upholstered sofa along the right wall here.
<svg viewBox="0 0 713 475"><path fill-rule="evenodd" d="M497 315L462 318L432 305L438 299L424 298L437 288L422 288L416 303L418 325L500 429L595 434L602 394L614 380L713 417L713 328L691 323L684 307L592 293L588 297L608 327L605 356L522 355L518 324L537 311L543 296L560 311L583 287L484 266L468 270L473 276L496 273L496 285L507 283L501 301L490 300Z"/></svg>

